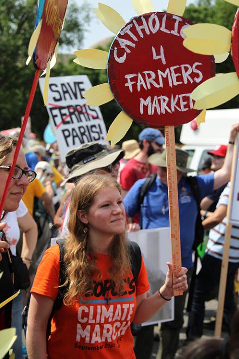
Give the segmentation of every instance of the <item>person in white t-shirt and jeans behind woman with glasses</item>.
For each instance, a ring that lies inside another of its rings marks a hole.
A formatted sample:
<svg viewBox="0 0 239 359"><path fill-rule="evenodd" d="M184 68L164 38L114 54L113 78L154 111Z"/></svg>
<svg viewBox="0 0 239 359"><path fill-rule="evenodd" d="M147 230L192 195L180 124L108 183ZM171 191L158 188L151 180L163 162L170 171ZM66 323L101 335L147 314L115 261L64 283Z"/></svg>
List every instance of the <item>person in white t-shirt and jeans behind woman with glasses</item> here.
<svg viewBox="0 0 239 359"><path fill-rule="evenodd" d="M30 268L32 255L37 241L37 225L24 202L21 200L19 207L14 212L8 212L4 217L6 226L4 232L6 240L10 244L11 253L17 256L16 245L20 239L20 229L23 232L23 245L21 258L27 269ZM13 344L13 352L16 359L23 359L22 353L22 313L23 311L23 293L18 294L12 302L12 326L16 328L17 339Z"/></svg>

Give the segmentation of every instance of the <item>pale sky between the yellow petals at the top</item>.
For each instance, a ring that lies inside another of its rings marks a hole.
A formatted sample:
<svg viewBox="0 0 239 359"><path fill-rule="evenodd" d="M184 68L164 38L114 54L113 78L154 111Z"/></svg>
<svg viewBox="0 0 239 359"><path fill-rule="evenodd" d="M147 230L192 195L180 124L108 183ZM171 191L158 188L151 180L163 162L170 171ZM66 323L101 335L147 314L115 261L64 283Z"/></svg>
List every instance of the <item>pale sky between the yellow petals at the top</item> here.
<svg viewBox="0 0 239 359"><path fill-rule="evenodd" d="M81 0L76 0L76 2L80 3ZM92 5L92 8L97 8L98 2L111 6L119 12L126 22L131 17L137 15L131 0L88 0L88 2ZM152 0L152 3L155 10L163 11L167 9L168 0ZM190 3L196 3L196 0L187 0L187 5ZM83 41L82 48L89 48L100 40L113 35L114 34L100 22L100 20L96 17L95 12L92 10L92 21L90 23L89 30L85 32L85 39Z"/></svg>

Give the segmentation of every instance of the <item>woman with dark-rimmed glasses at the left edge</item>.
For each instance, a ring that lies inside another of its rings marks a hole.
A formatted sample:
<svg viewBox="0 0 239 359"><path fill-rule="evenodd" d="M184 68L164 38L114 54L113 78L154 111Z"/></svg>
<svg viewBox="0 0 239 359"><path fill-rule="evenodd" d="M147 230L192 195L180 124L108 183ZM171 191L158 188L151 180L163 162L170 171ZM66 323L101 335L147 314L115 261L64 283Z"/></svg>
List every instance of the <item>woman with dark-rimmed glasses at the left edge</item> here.
<svg viewBox="0 0 239 359"><path fill-rule="evenodd" d="M16 143L16 139L0 135L0 201L2 200L4 187L13 161ZM13 212L17 210L20 200L25 193L29 182L33 181L35 179L35 176L36 173L29 170L24 153L20 151L16 161L15 169L13 171L12 179L10 181L7 196L4 202L4 213L1 218L3 222L0 223L1 240L5 238L5 212ZM7 249L8 245L5 245L3 247L4 249ZM2 252L2 249L0 272L3 272L0 283L0 303L2 303L14 293L14 284L12 281L12 267L11 260L9 259L9 252ZM4 307L0 308L0 329L9 328L11 326L11 309L12 302L9 302Z"/></svg>

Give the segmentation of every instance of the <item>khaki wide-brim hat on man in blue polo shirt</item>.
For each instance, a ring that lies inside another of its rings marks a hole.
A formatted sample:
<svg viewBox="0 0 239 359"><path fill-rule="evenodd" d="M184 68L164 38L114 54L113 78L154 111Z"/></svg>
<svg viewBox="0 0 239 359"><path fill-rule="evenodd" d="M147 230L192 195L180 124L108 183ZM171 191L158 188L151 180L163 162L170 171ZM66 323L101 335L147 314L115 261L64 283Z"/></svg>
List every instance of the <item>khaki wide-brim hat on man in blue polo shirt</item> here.
<svg viewBox="0 0 239 359"><path fill-rule="evenodd" d="M176 151L176 167L177 170L188 173L193 172L195 170L187 167L188 161L188 153L179 147L175 148ZM162 153L154 153L153 155L149 156L148 161L154 165L159 167L167 167L167 160L166 160L166 151L164 150Z"/></svg>

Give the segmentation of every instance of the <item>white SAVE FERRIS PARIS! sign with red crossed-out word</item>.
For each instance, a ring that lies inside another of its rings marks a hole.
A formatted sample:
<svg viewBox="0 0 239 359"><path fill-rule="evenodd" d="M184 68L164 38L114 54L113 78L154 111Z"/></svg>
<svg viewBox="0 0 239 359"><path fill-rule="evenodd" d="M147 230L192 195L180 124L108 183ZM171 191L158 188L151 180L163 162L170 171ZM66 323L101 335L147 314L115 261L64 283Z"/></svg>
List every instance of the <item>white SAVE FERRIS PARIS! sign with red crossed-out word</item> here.
<svg viewBox="0 0 239 359"><path fill-rule="evenodd" d="M43 94L44 79L39 79ZM50 77L46 105L56 136L61 161L65 154L83 143L106 143L106 127L99 107L88 106L83 97L91 87L86 75Z"/></svg>

